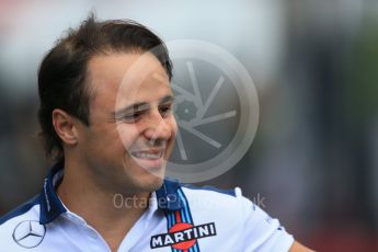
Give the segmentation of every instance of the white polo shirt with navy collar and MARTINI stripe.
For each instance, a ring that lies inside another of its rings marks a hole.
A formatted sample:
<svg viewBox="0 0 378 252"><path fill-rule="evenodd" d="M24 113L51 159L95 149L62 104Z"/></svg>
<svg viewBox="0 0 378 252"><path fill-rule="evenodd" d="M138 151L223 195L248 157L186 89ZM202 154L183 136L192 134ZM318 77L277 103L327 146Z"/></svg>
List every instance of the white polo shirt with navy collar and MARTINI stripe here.
<svg viewBox="0 0 378 252"><path fill-rule="evenodd" d="M62 163L56 164L39 195L0 218L0 251L111 251L95 229L60 202L55 184L62 172ZM142 203L115 197L114 204ZM293 242L278 220L239 188L221 192L165 180L118 251L288 251Z"/></svg>

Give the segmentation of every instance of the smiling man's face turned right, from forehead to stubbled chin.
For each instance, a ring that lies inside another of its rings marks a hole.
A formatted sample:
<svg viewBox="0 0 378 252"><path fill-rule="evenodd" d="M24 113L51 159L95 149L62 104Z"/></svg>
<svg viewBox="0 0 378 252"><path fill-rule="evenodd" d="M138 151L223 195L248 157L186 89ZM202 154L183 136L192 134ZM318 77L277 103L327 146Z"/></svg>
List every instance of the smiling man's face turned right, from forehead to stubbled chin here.
<svg viewBox="0 0 378 252"><path fill-rule="evenodd" d="M114 53L92 58L88 70L93 99L90 126L79 127L83 164L113 191L156 191L176 134L163 67L150 53Z"/></svg>

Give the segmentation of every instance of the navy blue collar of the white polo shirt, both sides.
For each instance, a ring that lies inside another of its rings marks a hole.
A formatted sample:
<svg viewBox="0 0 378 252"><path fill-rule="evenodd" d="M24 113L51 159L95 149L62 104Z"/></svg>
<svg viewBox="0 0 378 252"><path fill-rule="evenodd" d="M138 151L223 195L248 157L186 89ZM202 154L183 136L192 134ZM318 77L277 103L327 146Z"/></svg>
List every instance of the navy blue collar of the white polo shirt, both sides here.
<svg viewBox="0 0 378 252"><path fill-rule="evenodd" d="M57 162L48 172L44 187L41 192L41 213L39 222L45 225L51 222L61 214L66 213L67 209L60 202L58 195L56 194L54 186L54 176L58 172L62 172L64 161ZM156 192L158 207L164 210L177 210L181 209L184 204L182 198L179 196L180 183L173 180L164 180L162 186Z"/></svg>

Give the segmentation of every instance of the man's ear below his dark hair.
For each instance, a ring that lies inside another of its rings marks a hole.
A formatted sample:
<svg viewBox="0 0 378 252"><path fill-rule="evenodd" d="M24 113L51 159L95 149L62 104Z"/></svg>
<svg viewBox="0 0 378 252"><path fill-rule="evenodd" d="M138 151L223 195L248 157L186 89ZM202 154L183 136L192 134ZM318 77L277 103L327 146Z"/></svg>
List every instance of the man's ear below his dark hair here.
<svg viewBox="0 0 378 252"><path fill-rule="evenodd" d="M78 142L77 121L65 111L55 108L53 111L53 125L60 139L67 145Z"/></svg>

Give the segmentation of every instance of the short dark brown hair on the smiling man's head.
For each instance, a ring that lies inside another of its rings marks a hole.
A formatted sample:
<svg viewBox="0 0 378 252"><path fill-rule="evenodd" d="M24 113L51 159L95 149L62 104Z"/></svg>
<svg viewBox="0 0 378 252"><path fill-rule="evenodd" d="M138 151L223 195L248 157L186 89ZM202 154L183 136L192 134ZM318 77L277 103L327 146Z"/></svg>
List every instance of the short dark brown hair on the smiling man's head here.
<svg viewBox="0 0 378 252"><path fill-rule="evenodd" d="M93 14L78 30L70 28L43 59L38 71L38 119L45 151L64 157L62 142L53 126L53 111L61 108L90 125L91 91L85 83L91 58L110 53L151 51L172 78L172 62L164 43L146 26L130 20L99 22Z"/></svg>

